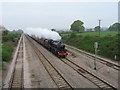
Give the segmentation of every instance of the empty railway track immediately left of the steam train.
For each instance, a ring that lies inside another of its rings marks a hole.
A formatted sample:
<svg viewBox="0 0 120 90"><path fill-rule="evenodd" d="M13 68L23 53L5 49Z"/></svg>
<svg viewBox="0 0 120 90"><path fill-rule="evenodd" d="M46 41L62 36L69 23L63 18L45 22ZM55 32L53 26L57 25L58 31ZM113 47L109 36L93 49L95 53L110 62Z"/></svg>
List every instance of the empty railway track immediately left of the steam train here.
<svg viewBox="0 0 120 90"><path fill-rule="evenodd" d="M62 77L62 75L54 68L54 66L47 60L47 58L41 53L41 51L35 46L35 41L33 41L30 37L26 36L30 41L31 46L34 48L36 55L39 57L39 60L42 62L46 71L55 82L59 89L69 89L72 90L71 85ZM42 59L41 59L42 58ZM44 58L44 59L43 59Z"/></svg>

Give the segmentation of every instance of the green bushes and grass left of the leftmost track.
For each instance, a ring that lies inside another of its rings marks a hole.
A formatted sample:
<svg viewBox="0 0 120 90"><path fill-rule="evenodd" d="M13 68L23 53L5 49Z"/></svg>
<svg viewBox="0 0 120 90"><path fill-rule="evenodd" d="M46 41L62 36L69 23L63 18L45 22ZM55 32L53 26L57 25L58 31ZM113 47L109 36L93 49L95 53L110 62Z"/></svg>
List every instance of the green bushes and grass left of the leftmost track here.
<svg viewBox="0 0 120 90"><path fill-rule="evenodd" d="M20 32L4 30L2 33L2 60L9 61L14 47L17 45L21 36Z"/></svg>

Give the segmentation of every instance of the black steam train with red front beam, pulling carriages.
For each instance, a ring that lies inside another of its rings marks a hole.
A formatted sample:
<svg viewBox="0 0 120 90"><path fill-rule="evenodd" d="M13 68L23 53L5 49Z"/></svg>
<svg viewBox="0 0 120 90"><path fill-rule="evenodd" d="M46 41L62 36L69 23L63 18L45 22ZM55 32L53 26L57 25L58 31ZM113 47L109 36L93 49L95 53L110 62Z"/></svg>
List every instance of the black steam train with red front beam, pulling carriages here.
<svg viewBox="0 0 120 90"><path fill-rule="evenodd" d="M44 38L37 38L36 41L59 58L65 58L68 55L67 50L65 49L65 45L60 41Z"/></svg>

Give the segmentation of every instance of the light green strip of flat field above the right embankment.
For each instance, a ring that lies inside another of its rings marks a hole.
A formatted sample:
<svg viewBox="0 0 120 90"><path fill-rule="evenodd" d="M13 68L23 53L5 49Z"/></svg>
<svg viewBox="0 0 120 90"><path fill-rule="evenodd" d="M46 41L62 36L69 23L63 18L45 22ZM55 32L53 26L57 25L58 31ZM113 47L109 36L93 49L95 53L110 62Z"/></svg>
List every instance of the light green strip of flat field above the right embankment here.
<svg viewBox="0 0 120 90"><path fill-rule="evenodd" d="M100 36L101 37L104 37L104 36L115 36L116 34L118 34L117 31L107 31L107 32L100 32ZM66 34L61 34L62 36L68 36L70 35L70 33L66 33ZM99 32L83 32L83 33L77 33L77 35L82 35L82 36L86 36L86 35L89 35L89 36L99 36Z"/></svg>

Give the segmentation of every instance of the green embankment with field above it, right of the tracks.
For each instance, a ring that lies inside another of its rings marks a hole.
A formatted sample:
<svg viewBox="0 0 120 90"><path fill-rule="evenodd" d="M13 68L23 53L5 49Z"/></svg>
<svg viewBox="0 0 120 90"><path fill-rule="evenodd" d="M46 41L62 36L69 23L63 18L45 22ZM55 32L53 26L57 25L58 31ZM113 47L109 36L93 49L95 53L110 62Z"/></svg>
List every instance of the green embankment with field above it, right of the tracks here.
<svg viewBox="0 0 120 90"><path fill-rule="evenodd" d="M118 32L101 32L100 35L98 32L69 33L62 34L62 38L64 43L90 53L94 53L94 42L98 42L98 55L115 60L115 55L119 56Z"/></svg>

